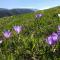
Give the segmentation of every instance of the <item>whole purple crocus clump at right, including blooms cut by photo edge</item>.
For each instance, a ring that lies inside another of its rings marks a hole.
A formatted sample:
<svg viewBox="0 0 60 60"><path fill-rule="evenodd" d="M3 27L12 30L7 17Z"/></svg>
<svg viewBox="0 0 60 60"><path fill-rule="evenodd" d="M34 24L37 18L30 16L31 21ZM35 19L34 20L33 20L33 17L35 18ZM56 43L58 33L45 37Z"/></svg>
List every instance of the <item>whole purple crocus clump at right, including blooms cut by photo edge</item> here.
<svg viewBox="0 0 60 60"><path fill-rule="evenodd" d="M60 26L58 26L57 32L53 32L50 36L47 37L46 42L50 45L54 45L60 39Z"/></svg>

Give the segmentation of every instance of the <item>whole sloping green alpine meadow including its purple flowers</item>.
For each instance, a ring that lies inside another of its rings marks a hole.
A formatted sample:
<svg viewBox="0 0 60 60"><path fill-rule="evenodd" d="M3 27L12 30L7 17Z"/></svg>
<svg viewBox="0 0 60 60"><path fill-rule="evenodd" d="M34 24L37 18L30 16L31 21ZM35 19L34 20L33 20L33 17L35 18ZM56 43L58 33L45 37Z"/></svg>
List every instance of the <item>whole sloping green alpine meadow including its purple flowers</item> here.
<svg viewBox="0 0 60 60"><path fill-rule="evenodd" d="M0 60L60 60L60 6L0 18Z"/></svg>

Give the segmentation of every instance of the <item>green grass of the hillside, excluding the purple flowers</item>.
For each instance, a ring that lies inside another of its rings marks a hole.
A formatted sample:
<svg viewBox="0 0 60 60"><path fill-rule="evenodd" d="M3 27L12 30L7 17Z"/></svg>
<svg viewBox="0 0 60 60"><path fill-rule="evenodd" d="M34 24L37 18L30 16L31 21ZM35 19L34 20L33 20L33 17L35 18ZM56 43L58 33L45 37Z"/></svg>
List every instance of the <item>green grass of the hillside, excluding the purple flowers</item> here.
<svg viewBox="0 0 60 60"><path fill-rule="evenodd" d="M38 22L35 19L35 14L37 13L43 14L43 17ZM13 37L7 40L4 39L1 44L1 60L60 59L56 52L53 53L53 48L44 42L45 37L52 32L56 32L57 26L60 25L58 13L60 13L60 7L0 18L0 35L2 35L2 31L5 29L10 29L13 32ZM37 28L37 23L39 28ZM19 37L12 29L14 25L23 26ZM59 49L59 44L54 48Z"/></svg>

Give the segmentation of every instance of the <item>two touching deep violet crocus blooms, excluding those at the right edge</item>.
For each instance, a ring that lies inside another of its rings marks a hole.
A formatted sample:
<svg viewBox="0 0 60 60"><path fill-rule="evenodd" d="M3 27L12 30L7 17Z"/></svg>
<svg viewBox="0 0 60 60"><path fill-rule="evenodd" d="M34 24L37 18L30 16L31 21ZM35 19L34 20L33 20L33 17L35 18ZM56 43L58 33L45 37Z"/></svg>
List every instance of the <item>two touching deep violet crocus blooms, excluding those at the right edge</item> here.
<svg viewBox="0 0 60 60"><path fill-rule="evenodd" d="M56 42L58 41L58 35L57 33L52 33L52 35L48 36L48 38L46 39L46 42L49 44L49 45L53 45L55 44Z"/></svg>

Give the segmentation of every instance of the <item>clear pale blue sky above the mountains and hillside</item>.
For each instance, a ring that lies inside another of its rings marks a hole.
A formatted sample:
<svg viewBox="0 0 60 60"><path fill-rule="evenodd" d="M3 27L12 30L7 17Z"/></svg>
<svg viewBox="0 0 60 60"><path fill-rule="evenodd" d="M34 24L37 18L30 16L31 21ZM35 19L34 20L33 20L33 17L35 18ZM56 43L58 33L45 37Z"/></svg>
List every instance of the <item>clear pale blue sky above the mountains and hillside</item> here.
<svg viewBox="0 0 60 60"><path fill-rule="evenodd" d="M60 0L0 0L0 8L47 9L60 6Z"/></svg>

